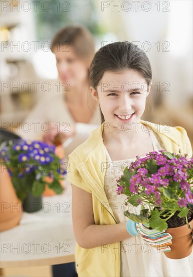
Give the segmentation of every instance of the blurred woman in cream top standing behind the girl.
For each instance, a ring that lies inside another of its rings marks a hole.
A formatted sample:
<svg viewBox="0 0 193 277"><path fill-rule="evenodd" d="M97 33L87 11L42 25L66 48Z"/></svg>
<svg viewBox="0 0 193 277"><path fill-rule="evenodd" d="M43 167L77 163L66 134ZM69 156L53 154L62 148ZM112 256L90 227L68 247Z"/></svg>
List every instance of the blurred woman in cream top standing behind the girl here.
<svg viewBox="0 0 193 277"><path fill-rule="evenodd" d="M65 148L68 157L101 122L100 108L88 93L94 39L86 28L69 26L55 35L51 50L56 56L60 92L56 87L51 97L37 104L25 119L31 130L22 136L42 138L49 144L56 141L58 133L62 142L71 137Z"/></svg>

